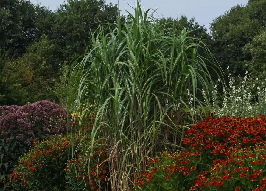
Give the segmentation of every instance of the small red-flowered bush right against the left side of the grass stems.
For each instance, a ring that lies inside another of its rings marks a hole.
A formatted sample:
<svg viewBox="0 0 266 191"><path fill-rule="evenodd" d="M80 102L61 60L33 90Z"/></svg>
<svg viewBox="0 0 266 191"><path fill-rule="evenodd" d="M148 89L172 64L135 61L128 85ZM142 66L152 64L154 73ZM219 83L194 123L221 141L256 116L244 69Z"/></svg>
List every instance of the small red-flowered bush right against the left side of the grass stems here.
<svg viewBox="0 0 266 191"><path fill-rule="evenodd" d="M88 163L86 147L91 143L90 138L83 138L82 152L77 153L77 158L69 160L66 165L66 191L79 190L108 190L104 189L108 181L107 156L104 152L103 141L98 141L98 146L94 149L93 156ZM80 148L79 148L80 149ZM76 177L76 178L73 178Z"/></svg>

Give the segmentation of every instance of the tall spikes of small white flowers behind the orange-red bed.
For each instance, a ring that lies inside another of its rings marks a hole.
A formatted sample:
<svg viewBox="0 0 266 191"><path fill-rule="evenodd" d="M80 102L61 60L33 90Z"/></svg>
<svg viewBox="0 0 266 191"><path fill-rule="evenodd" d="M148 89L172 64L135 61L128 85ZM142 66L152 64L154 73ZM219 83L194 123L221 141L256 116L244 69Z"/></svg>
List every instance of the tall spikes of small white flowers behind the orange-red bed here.
<svg viewBox="0 0 266 191"><path fill-rule="evenodd" d="M227 67L227 70L229 71L229 67ZM217 94L217 86L220 80L216 81L212 92L212 110L217 116L250 117L261 113L266 114L266 80L259 84L258 78L256 80L248 78L248 71L246 71L245 77L242 78L243 80L240 84L236 83L235 76L231 76L230 73L228 77L230 80L229 87L226 84L223 85L221 107L218 104L219 96ZM206 97L204 93L203 96ZM207 100L205 102L209 104Z"/></svg>

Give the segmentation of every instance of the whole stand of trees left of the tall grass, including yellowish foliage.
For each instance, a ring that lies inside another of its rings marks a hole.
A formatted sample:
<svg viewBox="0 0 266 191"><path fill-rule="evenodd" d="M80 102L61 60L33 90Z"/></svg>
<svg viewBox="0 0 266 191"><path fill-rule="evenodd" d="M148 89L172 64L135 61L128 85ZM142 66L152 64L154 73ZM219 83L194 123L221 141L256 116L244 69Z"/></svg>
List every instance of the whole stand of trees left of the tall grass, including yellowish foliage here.
<svg viewBox="0 0 266 191"><path fill-rule="evenodd" d="M83 54L90 30L114 22L116 12L103 0L69 0L55 12L29 0L1 0L0 105L58 100L60 67Z"/></svg>

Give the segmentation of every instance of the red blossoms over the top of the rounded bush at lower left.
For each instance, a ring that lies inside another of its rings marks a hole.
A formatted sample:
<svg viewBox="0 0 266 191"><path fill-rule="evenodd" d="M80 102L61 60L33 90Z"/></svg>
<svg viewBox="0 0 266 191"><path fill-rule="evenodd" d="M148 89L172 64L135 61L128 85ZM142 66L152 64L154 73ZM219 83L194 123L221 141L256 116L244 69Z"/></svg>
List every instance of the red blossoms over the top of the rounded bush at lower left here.
<svg viewBox="0 0 266 191"><path fill-rule="evenodd" d="M12 183L22 183L25 185L25 188L27 188L28 181L32 179L31 177L37 178L41 175L41 178L49 179L51 171L49 171L47 175L41 168L49 163L50 169L52 170L52 163L49 161L53 161L55 163L55 168L60 168L64 165L68 158L68 152L66 151L69 149L70 143L70 135L51 136L48 137L46 141L42 142L34 141L35 148L29 153L23 155L20 158L19 165L15 167L15 170L11 175ZM75 145L76 142L73 144ZM55 178L54 173L53 178Z"/></svg>

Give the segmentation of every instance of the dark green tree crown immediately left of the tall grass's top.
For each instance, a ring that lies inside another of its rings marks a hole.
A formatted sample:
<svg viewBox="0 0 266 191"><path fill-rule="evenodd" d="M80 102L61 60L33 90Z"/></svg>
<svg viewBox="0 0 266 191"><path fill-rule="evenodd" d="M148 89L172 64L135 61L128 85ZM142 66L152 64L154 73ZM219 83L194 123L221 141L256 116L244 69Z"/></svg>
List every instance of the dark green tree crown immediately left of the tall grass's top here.
<svg viewBox="0 0 266 191"><path fill-rule="evenodd" d="M90 30L97 30L99 21L114 23L117 9L104 0L68 0L61 4L55 12L52 38L60 46L62 59L71 61L83 54L90 45Z"/></svg>

